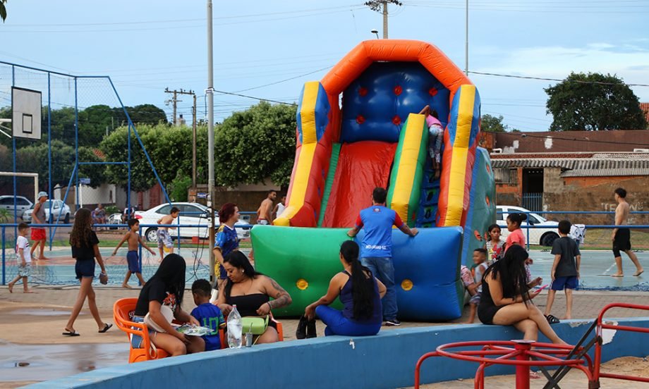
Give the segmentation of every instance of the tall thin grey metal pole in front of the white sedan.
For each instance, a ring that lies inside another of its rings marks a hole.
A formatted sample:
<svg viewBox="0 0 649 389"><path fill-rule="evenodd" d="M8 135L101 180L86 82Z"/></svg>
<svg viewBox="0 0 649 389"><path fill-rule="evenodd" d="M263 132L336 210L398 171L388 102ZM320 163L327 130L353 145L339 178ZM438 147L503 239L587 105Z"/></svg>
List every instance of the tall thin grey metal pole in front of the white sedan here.
<svg viewBox="0 0 649 389"><path fill-rule="evenodd" d="M212 0L207 0L207 207L210 209L210 280L217 282L214 270L214 54L212 54ZM222 291L219 291L222 292Z"/></svg>

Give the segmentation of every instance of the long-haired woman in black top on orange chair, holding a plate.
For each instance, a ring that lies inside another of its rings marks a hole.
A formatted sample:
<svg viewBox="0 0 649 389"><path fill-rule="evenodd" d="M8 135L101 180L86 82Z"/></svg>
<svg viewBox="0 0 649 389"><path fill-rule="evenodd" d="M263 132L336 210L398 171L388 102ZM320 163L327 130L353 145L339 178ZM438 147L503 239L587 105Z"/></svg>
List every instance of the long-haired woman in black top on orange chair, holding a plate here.
<svg viewBox="0 0 649 389"><path fill-rule="evenodd" d="M162 330L154 331L149 326L151 341L155 347L168 352L172 357L205 350L202 338L179 333L171 326L170 318L163 313L163 310L171 311L177 321L200 326L196 319L181 308L185 292L185 268L185 259L180 255L169 254L164 257L158 270L140 290L133 316L133 321L142 322L149 314L149 319ZM139 336L133 336L133 347L140 347L140 342L142 339Z"/></svg>

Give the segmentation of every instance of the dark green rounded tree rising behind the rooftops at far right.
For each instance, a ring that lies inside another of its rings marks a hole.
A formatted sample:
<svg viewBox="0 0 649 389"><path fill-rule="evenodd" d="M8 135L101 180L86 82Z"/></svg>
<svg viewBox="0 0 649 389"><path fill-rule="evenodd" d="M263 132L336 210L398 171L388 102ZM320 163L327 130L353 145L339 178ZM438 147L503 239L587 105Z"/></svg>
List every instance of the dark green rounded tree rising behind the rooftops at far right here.
<svg viewBox="0 0 649 389"><path fill-rule="evenodd" d="M600 73L570 73L547 87L551 131L644 130L647 121L638 97L621 78Z"/></svg>

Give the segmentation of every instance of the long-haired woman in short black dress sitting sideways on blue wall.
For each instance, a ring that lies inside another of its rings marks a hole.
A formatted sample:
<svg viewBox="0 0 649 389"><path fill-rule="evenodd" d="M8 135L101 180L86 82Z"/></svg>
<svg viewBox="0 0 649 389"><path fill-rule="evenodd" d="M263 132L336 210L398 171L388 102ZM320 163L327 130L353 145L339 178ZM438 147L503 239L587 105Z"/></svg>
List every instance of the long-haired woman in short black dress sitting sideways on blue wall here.
<svg viewBox="0 0 649 389"><path fill-rule="evenodd" d="M519 245L509 247L503 259L487 268L483 275L483 293L478 305L478 318L485 324L514 326L524 339L537 340L541 331L552 343L566 344L550 327L543 313L531 301L540 290L530 288L540 278L528 283L525 261L528 253Z"/></svg>

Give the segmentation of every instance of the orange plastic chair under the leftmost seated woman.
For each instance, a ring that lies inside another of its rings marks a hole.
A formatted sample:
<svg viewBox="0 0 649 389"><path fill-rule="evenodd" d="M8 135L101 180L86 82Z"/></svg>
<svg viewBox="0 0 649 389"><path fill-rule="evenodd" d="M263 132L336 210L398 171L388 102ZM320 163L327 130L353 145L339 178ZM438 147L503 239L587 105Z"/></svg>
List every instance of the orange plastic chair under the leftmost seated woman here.
<svg viewBox="0 0 649 389"><path fill-rule="evenodd" d="M131 352L128 354L128 363L132 364L169 357L169 353L166 351L152 347L151 340L149 339L149 329L145 323L131 321L136 304L138 304L138 299L130 297L117 300L113 305L113 320L117 327L126 333L128 347L131 348ZM133 335L140 335L142 337L142 348L133 348L131 344Z"/></svg>

